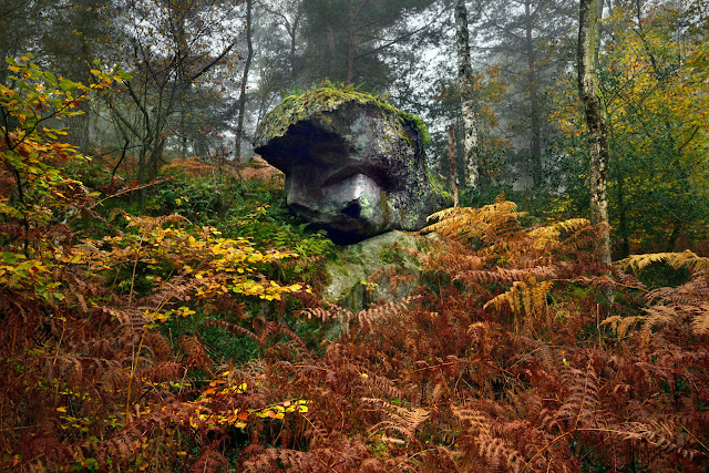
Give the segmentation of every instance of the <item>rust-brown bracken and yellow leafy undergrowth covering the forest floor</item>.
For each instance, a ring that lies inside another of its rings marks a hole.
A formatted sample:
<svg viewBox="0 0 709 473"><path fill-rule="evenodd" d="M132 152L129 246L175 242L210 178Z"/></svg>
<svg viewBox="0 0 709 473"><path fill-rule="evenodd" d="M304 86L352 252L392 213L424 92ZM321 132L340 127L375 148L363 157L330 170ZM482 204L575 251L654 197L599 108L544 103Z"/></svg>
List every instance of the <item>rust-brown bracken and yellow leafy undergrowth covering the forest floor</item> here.
<svg viewBox="0 0 709 473"><path fill-rule="evenodd" d="M407 249L421 285L353 313L276 280L291 251L178 214L123 210L101 237L75 229L106 219L102 200L66 177L82 157L61 128L34 124L92 88L52 82L29 58L13 68L18 88L0 97L1 469L709 466L709 259L634 256L610 279L595 263L607 228L525 226L500 197L435 214L423 232L439 237ZM646 287L653 265L687 278ZM614 301L596 300L607 287ZM339 336L304 340L308 323ZM208 329L258 354L223 358Z"/></svg>

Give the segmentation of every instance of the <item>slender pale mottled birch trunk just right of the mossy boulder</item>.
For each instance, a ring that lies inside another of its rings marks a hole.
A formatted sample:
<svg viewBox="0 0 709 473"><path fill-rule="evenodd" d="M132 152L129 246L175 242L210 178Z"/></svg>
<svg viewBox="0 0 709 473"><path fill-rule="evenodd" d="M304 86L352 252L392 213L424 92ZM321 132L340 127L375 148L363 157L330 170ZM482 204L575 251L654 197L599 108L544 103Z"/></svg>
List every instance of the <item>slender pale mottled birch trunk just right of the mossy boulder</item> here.
<svg viewBox="0 0 709 473"><path fill-rule="evenodd" d="M470 62L470 44L467 33L467 10L465 0L455 0L455 47L458 52L458 89L461 95L463 115L463 140L465 148L465 183L477 188L480 168L477 160L477 123L473 97L473 68Z"/></svg>

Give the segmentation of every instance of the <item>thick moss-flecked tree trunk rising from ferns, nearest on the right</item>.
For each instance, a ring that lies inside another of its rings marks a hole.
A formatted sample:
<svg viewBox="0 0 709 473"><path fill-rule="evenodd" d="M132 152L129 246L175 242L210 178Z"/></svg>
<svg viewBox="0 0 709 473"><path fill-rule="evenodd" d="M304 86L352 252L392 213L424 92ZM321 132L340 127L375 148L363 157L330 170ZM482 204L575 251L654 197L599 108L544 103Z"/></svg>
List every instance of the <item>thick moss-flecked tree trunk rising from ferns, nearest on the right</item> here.
<svg viewBox="0 0 709 473"><path fill-rule="evenodd" d="M590 157L590 222L608 224L608 128L596 74L598 1L580 0L578 28L578 92L584 104ZM610 265L610 233L600 240L600 264Z"/></svg>

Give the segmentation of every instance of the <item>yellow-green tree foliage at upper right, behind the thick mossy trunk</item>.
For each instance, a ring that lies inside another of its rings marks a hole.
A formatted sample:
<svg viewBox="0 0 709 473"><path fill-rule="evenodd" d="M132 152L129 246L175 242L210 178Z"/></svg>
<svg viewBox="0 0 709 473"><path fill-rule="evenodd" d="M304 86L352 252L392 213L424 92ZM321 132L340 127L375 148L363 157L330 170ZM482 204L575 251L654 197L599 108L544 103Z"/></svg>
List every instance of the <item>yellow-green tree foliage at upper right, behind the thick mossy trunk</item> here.
<svg viewBox="0 0 709 473"><path fill-rule="evenodd" d="M699 6L693 0L680 3ZM657 135L667 133L686 160L680 164L690 165L706 161L709 145L709 45L706 33L691 31L702 28L702 22L678 31L679 24L693 23L682 18L689 6L684 13L681 9L668 2L658 2L657 7L647 3L638 20L635 3L616 6L614 14L604 20L613 31L613 41L599 51L599 64L605 78L603 99L615 140L635 154L651 154ZM566 137L578 136L585 121L575 72L562 84L551 92L555 99L549 119ZM700 173L692 176L703 177Z"/></svg>

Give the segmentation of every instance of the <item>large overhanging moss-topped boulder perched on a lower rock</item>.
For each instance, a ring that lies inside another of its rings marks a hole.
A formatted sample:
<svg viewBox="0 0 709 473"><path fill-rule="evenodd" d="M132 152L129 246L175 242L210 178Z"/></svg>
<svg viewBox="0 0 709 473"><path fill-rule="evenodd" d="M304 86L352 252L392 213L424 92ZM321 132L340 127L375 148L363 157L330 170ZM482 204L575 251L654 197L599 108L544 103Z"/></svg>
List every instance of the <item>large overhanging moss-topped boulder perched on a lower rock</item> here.
<svg viewBox="0 0 709 473"><path fill-rule="evenodd" d="M338 243L417 230L442 204L420 119L349 89L285 99L258 125L256 153L286 174L288 206Z"/></svg>

